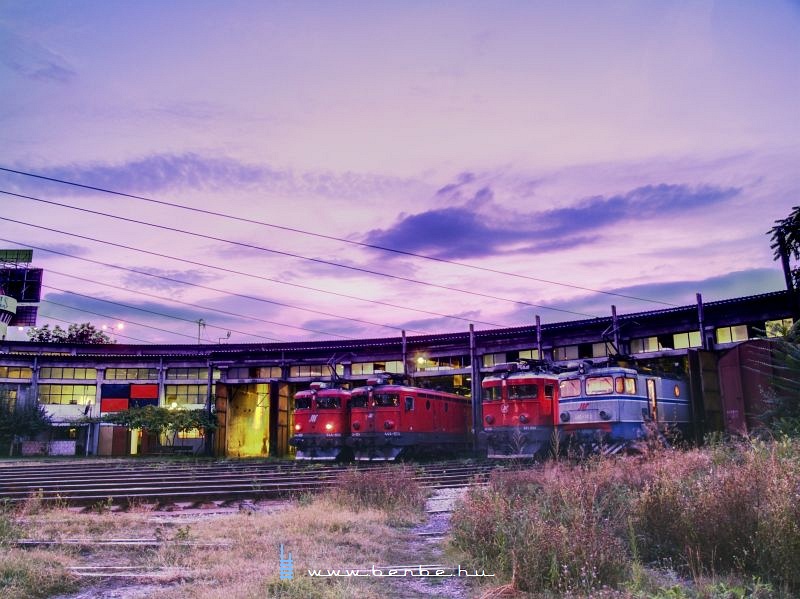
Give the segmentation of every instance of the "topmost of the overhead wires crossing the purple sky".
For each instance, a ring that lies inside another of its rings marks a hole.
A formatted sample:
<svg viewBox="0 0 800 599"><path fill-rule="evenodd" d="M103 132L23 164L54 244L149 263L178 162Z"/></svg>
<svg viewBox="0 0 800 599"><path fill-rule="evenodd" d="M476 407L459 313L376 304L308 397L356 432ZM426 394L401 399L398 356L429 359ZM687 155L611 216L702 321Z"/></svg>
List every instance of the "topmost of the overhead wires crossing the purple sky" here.
<svg viewBox="0 0 800 599"><path fill-rule="evenodd" d="M270 227L270 228L273 228L273 229L278 229L278 230L282 230L282 231L288 231L288 232L291 232L291 233L299 233L301 235L308 235L310 237L316 237L316 238L319 238L319 239L328 239L328 240L331 240L331 241L338 241L338 242L341 242L341 243L346 243L346 244L355 245L355 246L359 246L359 247L364 247L364 248L369 248L369 249L374 249L374 250L380 250L380 251L384 251L384 252L391 252L391 253L394 253L394 254L410 256L410 257L414 257L414 258L420 258L420 259L423 259L423 260L430 260L430 261L439 262L439 263L442 263L442 264L450 264L450 265L453 265L453 266L460 266L462 268L469 268L469 269L472 269L472 270L490 272L490 273L494 273L494 274L499 274L499 275L504 275L504 276L509 276L509 277L515 277L515 278L518 278L518 279L527 279L529 281L536 281L538 283L545 283L547 285L556 285L556 286L560 286L560 287L568 287L570 289L577 289L577 290L580 290L580 291L588 291L588 292L591 292L591 293L599 293L599 294L603 294L603 295L610 295L610 296L614 296L614 297L620 297L620 298L624 298L624 299L632 299L632 300L636 300L636 301L648 302L648 303L653 303L653 304L661 304L661 305L666 305L666 306L675 306L675 305L677 305L677 304L671 304L669 302L664 302L664 301L660 301L660 300L637 297L637 296L633 296L633 295L626 295L626 294L617 293L617 292L614 292L614 291L603 291L601 289L593 289L591 287L585 287L583 285L577 285L577 284L574 284L574 283L564 283L564 282L561 282L561 281L553 281L553 280L550 280L550 279L543 279L543 278L534 277L534 276L531 276L531 275L523 275L523 274L519 274L519 273L513 273L513 272L503 271L503 270L499 270L499 269L488 268L488 267L485 267L485 266L478 266L476 264L468 264L468 263L465 263L465 262L458 262L456 260L448 260L446 258L437 258L435 256L429 256L429 255L426 255L426 254L419 254L419 253L416 253L416 252L409 252L409 251L406 251L406 250L400 250L400 249L397 249L397 248L391 248L391 247L377 245L377 244L364 243L364 242L355 241L355 240L352 240L352 239L345 239L343 237L335 237L333 235L325 235L323 233L315 233L313 231L307 231L305 229L299 229L299 228L295 228L295 227L288 227L288 226L285 226L285 225L276 225L274 223L269 223L269 222L262 221L262 220L246 218L246 217L243 217L243 216L236 216L236 215L233 215L233 214L227 214L225 212L217 212L215 210L207 210L207 209L203 209L203 208L197 208L197 207L194 207L194 206L187 206L185 204L178 204L176 202L167 202L165 200L157 200L157 199L154 199L154 198L148 198L146 196L140 196L140 195L135 195L135 194L124 193L124 192L121 192L121 191L115 191L115 190L107 189L107 188L104 188L104 187L96 187L96 186L92 186L92 185L85 185L85 184L82 184L82 183L77 183L75 181L67 181L65 179L59 179L59 178L56 178L56 177L47 177L47 176L44 176L44 175L38 175L38 174L35 174L35 173L29 173L29 172L26 172L26 171L20 171L20 170L16 170L16 169L7 168L7 167L0 167L0 171L5 171L5 172L8 172L8 173L13 173L13 174L16 174L16 175L22 175L22 176L25 176L25 177L31 177L31 178L35 178L35 179L41 179L41 180L44 180L44 181L51 181L53 183L59 183L59 184L62 184L62 185L70 185L72 187L79 187L79 188L82 188L82 189L89 189L89 190L92 190L92 191L98 191L98 192L101 192L101 193L112 194L112 195L116 195L116 196L120 196L120 197L131 198L131 199L135 199L135 200L140 200L142 202L149 202L149 203L152 203L152 204L157 204L157 205L160 205L160 206L169 206L170 208L179 208L181 210L188 210L188 211L191 211L191 212L196 212L198 214L205 214L205 215L208 215L208 216L225 218L225 219L229 219L229 220L233 220L233 221L238 221L238 222L243 222L243 223L248 223L248 224L253 224L253 225L260 225L260 226L263 226L263 227Z"/></svg>

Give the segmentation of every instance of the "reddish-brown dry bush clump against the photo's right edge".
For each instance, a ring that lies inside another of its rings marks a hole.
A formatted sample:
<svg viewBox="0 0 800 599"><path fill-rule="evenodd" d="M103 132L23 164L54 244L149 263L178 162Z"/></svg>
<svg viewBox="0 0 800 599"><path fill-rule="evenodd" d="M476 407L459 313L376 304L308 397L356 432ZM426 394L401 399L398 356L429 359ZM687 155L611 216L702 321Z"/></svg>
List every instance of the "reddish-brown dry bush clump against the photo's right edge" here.
<svg viewBox="0 0 800 599"><path fill-rule="evenodd" d="M642 489L631 518L643 557L800 588L796 453L756 443L714 454L694 472L663 468Z"/></svg>

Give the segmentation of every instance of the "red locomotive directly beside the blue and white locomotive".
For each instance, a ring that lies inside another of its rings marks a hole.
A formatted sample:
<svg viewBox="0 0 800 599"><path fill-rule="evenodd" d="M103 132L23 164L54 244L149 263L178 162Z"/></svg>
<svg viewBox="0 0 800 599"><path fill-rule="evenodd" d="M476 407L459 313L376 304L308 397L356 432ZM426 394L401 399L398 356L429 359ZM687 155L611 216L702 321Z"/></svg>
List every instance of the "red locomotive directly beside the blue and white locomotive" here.
<svg viewBox="0 0 800 599"><path fill-rule="evenodd" d="M558 376L535 363L509 362L496 365L481 387L488 457L546 454L558 434Z"/></svg>

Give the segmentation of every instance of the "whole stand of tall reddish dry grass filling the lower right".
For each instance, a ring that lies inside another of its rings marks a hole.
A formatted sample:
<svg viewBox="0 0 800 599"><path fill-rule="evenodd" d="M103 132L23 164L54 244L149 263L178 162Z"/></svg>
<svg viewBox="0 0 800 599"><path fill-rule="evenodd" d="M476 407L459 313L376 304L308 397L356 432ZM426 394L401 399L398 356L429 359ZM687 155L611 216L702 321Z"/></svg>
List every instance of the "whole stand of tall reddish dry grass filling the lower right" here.
<svg viewBox="0 0 800 599"><path fill-rule="evenodd" d="M725 445L494 476L453 515L452 545L519 590L637 587L642 566L800 591L800 445Z"/></svg>

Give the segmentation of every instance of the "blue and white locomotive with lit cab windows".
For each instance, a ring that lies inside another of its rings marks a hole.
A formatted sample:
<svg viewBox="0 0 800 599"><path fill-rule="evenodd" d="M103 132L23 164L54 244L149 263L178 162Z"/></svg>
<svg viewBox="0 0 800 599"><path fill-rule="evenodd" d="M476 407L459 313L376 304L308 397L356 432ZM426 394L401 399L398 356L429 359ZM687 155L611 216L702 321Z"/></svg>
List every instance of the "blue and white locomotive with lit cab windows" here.
<svg viewBox="0 0 800 599"><path fill-rule="evenodd" d="M667 429L686 435L692 421L685 381L623 366L583 362L559 374L561 438L615 452Z"/></svg>

